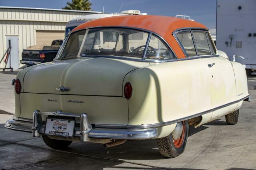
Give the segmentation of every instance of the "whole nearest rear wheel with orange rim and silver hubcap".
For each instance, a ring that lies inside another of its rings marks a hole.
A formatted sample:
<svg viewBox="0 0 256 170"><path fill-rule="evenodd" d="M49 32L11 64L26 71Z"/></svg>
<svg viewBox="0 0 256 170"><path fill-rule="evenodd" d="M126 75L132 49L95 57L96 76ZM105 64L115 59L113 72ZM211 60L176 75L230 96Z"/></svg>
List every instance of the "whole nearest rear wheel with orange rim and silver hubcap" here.
<svg viewBox="0 0 256 170"><path fill-rule="evenodd" d="M167 137L157 139L159 152L167 158L175 158L185 150L188 139L188 121L178 122Z"/></svg>

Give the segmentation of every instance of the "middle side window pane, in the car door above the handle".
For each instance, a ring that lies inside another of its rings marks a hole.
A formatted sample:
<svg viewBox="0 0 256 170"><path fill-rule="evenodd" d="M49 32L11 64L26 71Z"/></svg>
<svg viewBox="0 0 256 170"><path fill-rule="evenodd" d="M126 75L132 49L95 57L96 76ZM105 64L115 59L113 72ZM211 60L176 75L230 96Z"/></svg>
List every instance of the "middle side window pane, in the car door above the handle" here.
<svg viewBox="0 0 256 170"><path fill-rule="evenodd" d="M206 32L193 31L193 35L198 55L211 55L208 39L206 37Z"/></svg>

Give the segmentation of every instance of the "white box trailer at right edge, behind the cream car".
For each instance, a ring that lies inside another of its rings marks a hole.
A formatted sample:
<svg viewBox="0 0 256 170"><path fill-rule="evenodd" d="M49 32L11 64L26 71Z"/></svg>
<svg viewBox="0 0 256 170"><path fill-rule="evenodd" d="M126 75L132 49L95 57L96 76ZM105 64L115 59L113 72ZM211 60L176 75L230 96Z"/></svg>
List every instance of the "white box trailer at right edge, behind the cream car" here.
<svg viewBox="0 0 256 170"><path fill-rule="evenodd" d="M217 48L256 69L256 0L217 0L216 22Z"/></svg>

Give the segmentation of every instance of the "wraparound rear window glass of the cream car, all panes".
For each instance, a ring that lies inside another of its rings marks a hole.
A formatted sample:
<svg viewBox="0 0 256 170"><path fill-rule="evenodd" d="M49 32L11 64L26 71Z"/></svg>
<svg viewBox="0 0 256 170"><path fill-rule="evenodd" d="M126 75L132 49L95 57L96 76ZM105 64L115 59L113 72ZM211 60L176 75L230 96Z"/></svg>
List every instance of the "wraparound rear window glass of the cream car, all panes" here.
<svg viewBox="0 0 256 170"><path fill-rule="evenodd" d="M150 39L146 59L172 59L172 52L162 41L153 36ZM71 33L58 58L107 55L142 59L147 39L148 33L134 29L85 29Z"/></svg>

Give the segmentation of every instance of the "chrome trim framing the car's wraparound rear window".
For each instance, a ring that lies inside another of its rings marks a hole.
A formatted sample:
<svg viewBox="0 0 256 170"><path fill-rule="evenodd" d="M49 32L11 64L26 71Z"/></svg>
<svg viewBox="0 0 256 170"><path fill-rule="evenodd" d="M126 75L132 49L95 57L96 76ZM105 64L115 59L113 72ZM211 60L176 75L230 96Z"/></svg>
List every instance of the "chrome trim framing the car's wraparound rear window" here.
<svg viewBox="0 0 256 170"><path fill-rule="evenodd" d="M126 29L134 29L134 30L138 30L138 31L143 31L143 32L146 32L148 33L148 39L147 39L147 42L146 42L146 46L145 46L145 49L144 49L144 53L142 55L142 58L141 59L130 59L130 58L126 58L126 57L118 57L118 56L107 56L107 55L102 55L102 56L87 56L87 57L105 57L105 58L114 58L114 59L123 59L123 60L130 60L130 61L142 61L142 62L148 62L148 63L163 63L163 62L170 62L170 61L173 61L173 60L180 60L178 59L177 55L174 53L174 51L172 50L172 48L170 47L170 45L160 36L158 35L157 33L153 32L153 31L149 31L149 30L146 30L146 29L140 29L140 28L136 28L136 27L124 27L124 26L99 26L99 27L88 27L86 29L97 29L97 28L126 28ZM77 31L82 31L84 29L79 29L79 30L76 30L76 31L73 31L73 32L70 32L68 33L68 35L66 36L65 39L69 39L70 35L72 33L75 33ZM146 57L146 51L147 51L147 48L148 48L148 44L149 44L149 41L150 41L150 37L151 35L154 35L156 37L158 37L160 39L160 41L162 41L164 43L164 45L166 45L166 47L172 51L174 57L176 57L176 59L168 59L168 60L145 60L145 57ZM65 40L64 40L65 41ZM60 47L60 52L58 53L58 55L56 55L56 58L55 60L63 60L65 58L62 58L60 59L59 56L60 54L62 53L63 49L65 48L66 46L66 43L67 41L65 41L65 44L63 43L63 48ZM78 56L80 57L80 56ZM68 58L68 59L71 59L71 58Z"/></svg>

